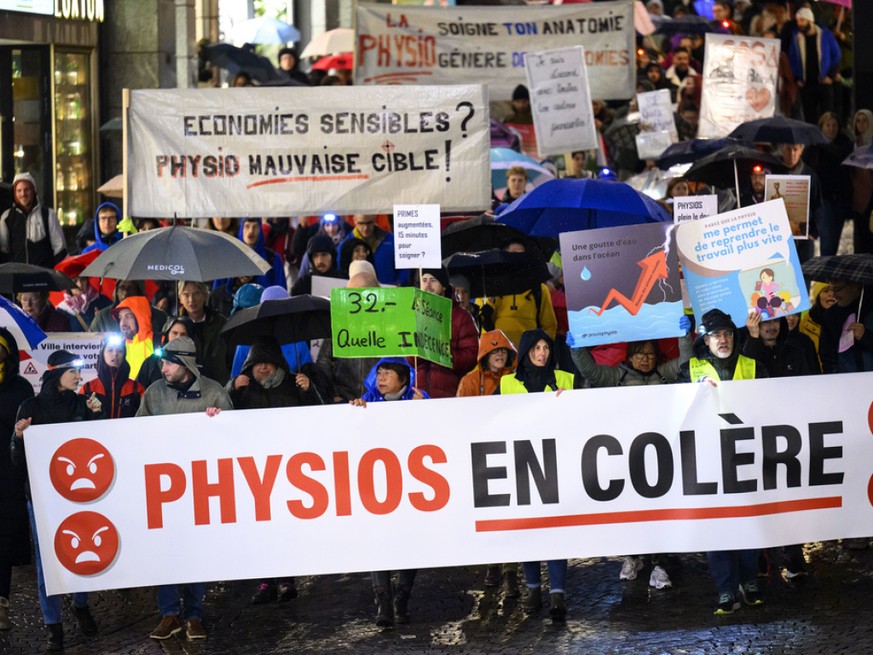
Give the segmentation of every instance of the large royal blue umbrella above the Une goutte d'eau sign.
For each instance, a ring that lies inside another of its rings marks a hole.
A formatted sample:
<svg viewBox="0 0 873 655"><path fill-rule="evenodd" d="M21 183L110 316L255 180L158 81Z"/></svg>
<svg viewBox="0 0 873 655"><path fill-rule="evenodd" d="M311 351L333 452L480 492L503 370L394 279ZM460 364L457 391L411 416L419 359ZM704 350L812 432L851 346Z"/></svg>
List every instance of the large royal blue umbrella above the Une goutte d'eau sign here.
<svg viewBox="0 0 873 655"><path fill-rule="evenodd" d="M513 202L498 221L532 236L670 221L661 205L623 182L549 180Z"/></svg>

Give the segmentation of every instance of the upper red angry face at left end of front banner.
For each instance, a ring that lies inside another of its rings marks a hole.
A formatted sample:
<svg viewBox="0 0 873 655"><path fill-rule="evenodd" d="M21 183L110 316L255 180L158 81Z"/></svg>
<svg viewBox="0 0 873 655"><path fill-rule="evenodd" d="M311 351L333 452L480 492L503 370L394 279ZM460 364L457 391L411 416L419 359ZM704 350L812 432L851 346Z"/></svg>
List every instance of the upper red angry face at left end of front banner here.
<svg viewBox="0 0 873 655"><path fill-rule="evenodd" d="M87 503L105 494L115 478L115 462L103 444L71 439L57 449L49 465L55 490L74 503Z"/></svg>

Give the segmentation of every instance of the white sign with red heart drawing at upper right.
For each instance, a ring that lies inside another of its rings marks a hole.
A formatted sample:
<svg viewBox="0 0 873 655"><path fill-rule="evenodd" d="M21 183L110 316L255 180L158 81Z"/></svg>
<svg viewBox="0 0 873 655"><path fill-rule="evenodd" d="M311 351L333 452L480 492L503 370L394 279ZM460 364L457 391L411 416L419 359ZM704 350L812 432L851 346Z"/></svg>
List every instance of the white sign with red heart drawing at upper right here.
<svg viewBox="0 0 873 655"><path fill-rule="evenodd" d="M776 111L779 40L707 34L698 136L727 136Z"/></svg>

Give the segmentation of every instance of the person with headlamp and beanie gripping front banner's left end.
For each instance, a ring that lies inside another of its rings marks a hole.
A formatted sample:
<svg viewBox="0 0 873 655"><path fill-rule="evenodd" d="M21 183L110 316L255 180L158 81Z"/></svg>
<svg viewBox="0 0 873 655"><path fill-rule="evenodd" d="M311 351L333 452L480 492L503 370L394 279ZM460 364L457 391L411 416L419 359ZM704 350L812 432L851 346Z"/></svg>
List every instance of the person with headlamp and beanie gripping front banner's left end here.
<svg viewBox="0 0 873 655"><path fill-rule="evenodd" d="M33 515L30 482L27 480L27 440L24 438L24 433L31 425L99 419L103 417L103 407L96 395L85 397L76 393L82 379L81 369L84 366L84 362L76 355L67 350L56 350L49 355L47 364L48 368L42 374L42 387L39 393L25 400L18 408L10 453L13 465L25 476L27 511L30 515L33 551L36 558L39 604L42 608L43 622L48 629L48 640L45 647L48 651L59 651L64 648L61 597L49 596L46 593L36 520ZM73 594L73 614L76 616L82 634L89 636L97 634L97 624L88 609L87 593Z"/></svg>

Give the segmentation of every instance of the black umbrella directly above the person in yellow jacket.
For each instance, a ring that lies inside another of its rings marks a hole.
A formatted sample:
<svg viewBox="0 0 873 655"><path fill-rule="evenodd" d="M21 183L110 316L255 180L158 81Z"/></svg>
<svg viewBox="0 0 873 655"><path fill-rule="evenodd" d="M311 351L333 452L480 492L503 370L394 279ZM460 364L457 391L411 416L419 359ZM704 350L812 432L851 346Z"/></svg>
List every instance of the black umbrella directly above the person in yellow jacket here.
<svg viewBox="0 0 873 655"><path fill-rule="evenodd" d="M470 281L470 295L475 298L524 293L552 277L545 263L529 252L460 252L443 263L450 275Z"/></svg>

